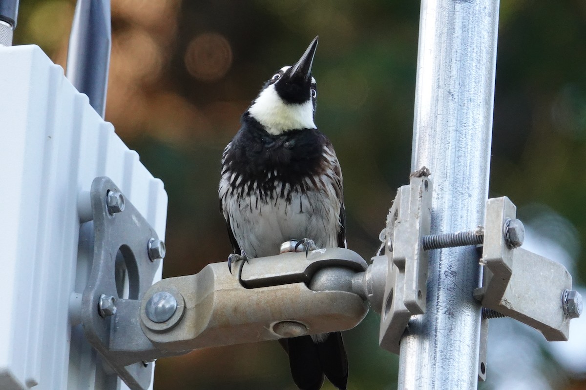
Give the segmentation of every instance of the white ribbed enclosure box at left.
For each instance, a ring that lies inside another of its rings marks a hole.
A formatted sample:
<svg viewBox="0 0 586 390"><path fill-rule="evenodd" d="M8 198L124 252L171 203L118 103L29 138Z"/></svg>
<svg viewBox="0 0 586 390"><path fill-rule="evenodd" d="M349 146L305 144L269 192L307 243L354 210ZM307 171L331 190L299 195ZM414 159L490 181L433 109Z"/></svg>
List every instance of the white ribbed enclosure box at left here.
<svg viewBox="0 0 586 390"><path fill-rule="evenodd" d="M164 239L163 183L38 46L0 47L0 135L0 389L124 389L69 318L91 269L77 198L110 177Z"/></svg>

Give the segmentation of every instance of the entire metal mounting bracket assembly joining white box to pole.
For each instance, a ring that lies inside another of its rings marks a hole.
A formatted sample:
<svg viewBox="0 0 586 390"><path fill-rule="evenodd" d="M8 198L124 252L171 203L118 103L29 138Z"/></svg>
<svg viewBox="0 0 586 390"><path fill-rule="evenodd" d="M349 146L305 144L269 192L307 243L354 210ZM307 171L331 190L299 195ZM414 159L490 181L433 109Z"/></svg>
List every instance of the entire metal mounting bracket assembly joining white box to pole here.
<svg viewBox="0 0 586 390"><path fill-rule="evenodd" d="M484 231L429 236L432 183L427 170L418 172L398 189L383 230L384 255L369 267L351 250L318 249L240 261L233 273L226 263L209 264L196 275L152 286L164 244L110 179L96 178L85 201L91 213L80 206L80 218L93 220L94 233L94 242L85 243L94 252L81 304L87 339L131 389L144 390L152 377L146 362L155 358L350 329L366 316L369 301L381 314L380 346L399 353L408 320L425 312L426 251L484 241L484 282L475 298L547 340L567 340L570 318L581 311L580 296L569 291L571 276L563 265L512 249L522 241L508 222L517 221L515 205L489 199ZM115 281L121 270L128 272L128 296ZM482 334L481 355L486 319ZM481 356L479 378L485 374Z"/></svg>

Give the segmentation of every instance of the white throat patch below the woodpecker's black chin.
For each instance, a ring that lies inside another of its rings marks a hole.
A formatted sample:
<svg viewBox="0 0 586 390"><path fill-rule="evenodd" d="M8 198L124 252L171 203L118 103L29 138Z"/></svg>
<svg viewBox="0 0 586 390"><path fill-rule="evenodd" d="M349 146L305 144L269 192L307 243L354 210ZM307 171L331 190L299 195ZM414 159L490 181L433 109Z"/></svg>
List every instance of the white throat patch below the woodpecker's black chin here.
<svg viewBox="0 0 586 390"><path fill-rule="evenodd" d="M275 136L288 130L315 129L311 99L301 104L285 103L275 91L275 84L269 85L258 95L248 112L268 133Z"/></svg>

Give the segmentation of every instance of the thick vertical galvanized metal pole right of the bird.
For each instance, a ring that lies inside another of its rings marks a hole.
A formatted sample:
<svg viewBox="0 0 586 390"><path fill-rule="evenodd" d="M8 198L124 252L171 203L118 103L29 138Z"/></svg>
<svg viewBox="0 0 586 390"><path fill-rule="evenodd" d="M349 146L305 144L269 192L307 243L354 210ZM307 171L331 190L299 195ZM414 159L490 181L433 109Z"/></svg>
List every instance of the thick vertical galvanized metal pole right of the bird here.
<svg viewBox="0 0 586 390"><path fill-rule="evenodd" d="M430 168L431 234L483 225L498 0L421 2L411 169ZM475 389L481 269L473 247L430 251L425 315L401 340L399 389Z"/></svg>

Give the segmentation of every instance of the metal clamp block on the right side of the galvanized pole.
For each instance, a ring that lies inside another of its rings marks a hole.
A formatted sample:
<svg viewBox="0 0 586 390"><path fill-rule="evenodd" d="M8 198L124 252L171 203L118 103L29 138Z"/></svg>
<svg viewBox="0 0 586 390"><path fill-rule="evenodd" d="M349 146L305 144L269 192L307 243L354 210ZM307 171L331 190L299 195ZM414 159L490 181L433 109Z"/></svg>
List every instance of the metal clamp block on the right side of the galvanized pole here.
<svg viewBox="0 0 586 390"><path fill-rule="evenodd" d="M486 202L483 285L474 296L483 307L539 330L548 341L568 340L571 315L564 310L564 293L572 288L572 277L556 261L507 244L503 229L515 217L516 207L506 196ZM581 307L576 311L574 316L580 315Z"/></svg>

